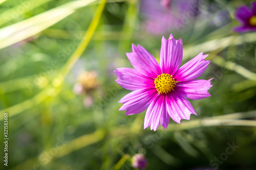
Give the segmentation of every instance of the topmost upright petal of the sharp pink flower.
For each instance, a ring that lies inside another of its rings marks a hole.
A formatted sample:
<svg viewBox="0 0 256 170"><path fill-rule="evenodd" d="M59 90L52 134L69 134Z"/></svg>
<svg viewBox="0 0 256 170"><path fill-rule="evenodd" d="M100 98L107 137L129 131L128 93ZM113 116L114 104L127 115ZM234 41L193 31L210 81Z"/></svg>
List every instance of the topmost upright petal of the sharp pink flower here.
<svg viewBox="0 0 256 170"><path fill-rule="evenodd" d="M168 40L162 37L160 65L164 74L174 75L180 67L183 55L182 40L174 39L170 34Z"/></svg>

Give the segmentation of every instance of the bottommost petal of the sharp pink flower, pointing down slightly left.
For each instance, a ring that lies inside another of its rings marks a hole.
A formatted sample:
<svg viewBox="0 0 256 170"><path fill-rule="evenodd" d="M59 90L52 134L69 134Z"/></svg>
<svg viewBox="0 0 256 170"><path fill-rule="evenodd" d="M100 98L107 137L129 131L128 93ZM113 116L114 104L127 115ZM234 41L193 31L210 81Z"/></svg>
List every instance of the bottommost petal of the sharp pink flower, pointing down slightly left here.
<svg viewBox="0 0 256 170"><path fill-rule="evenodd" d="M151 130L156 131L159 121L164 129L166 129L169 123L169 115L167 115L165 95L158 95L148 106L144 119L144 129L151 126Z"/></svg>

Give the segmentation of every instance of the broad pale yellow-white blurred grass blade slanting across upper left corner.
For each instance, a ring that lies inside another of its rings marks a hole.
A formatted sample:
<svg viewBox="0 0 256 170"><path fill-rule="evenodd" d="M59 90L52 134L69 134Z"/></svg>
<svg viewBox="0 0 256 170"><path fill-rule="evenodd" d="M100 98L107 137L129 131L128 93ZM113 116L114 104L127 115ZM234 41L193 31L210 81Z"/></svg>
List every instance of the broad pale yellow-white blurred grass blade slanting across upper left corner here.
<svg viewBox="0 0 256 170"><path fill-rule="evenodd" d="M69 16L75 10L96 0L80 0L67 3L34 17L0 29L0 49L29 38Z"/></svg>

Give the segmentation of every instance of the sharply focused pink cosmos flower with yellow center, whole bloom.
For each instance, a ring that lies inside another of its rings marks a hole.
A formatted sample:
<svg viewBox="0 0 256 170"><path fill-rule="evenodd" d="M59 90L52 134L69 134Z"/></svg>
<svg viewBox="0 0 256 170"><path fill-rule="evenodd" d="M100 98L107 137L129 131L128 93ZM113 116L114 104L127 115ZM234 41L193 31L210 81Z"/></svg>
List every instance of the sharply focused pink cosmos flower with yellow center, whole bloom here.
<svg viewBox="0 0 256 170"><path fill-rule="evenodd" d="M147 109L144 129L151 126L157 130L159 122L164 129L170 117L180 124L181 119L190 119L196 114L193 106L186 99L203 99L210 94L210 80L194 80L207 68L210 61L203 52L180 67L182 61L182 40L168 40L162 37L160 66L157 60L142 46L132 45L132 53L126 53L133 68L117 68L116 82L125 89L134 90L126 94L119 103L119 110L126 110L125 115L137 114ZM180 68L179 68L180 67Z"/></svg>

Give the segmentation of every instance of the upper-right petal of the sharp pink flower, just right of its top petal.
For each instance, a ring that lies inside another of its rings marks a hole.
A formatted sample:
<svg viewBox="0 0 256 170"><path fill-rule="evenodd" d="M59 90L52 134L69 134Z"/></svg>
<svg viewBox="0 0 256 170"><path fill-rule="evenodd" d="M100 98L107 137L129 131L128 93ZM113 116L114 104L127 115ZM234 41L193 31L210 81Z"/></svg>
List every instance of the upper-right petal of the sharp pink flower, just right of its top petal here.
<svg viewBox="0 0 256 170"><path fill-rule="evenodd" d="M189 81L198 78L203 74L210 61L204 60L207 55L203 55L203 52L194 57L193 59L182 65L174 78L176 81Z"/></svg>

